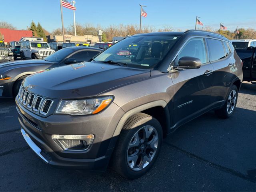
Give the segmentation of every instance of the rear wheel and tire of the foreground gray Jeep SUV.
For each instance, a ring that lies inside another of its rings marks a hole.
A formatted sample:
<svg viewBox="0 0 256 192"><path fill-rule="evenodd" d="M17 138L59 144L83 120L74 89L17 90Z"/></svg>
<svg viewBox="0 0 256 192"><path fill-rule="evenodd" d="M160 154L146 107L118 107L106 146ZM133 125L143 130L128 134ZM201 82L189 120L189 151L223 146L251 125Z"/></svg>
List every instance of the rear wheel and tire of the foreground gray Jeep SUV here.
<svg viewBox="0 0 256 192"><path fill-rule="evenodd" d="M228 92L228 97L226 98L224 106L218 110L215 110L215 114L220 118L229 118L236 108L237 98L238 89L235 85L232 85L230 91Z"/></svg>

